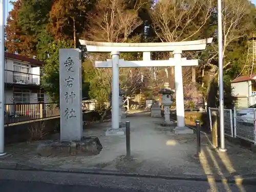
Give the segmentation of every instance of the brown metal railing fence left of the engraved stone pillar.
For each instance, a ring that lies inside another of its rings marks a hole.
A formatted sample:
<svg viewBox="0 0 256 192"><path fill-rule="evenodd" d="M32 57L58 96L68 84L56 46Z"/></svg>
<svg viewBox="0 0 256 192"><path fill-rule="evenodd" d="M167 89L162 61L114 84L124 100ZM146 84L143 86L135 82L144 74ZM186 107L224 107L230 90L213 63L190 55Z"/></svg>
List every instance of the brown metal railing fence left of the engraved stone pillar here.
<svg viewBox="0 0 256 192"><path fill-rule="evenodd" d="M59 116L57 103L5 104L5 124Z"/></svg>

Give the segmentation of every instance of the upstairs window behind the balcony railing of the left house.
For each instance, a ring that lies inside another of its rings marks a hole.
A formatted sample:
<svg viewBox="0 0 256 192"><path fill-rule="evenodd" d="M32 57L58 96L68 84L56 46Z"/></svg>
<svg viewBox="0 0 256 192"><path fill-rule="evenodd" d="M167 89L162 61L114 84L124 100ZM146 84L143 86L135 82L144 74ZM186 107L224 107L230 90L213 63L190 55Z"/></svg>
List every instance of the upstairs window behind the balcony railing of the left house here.
<svg viewBox="0 0 256 192"><path fill-rule="evenodd" d="M13 62L13 81L14 83L27 84L29 81L29 65Z"/></svg>

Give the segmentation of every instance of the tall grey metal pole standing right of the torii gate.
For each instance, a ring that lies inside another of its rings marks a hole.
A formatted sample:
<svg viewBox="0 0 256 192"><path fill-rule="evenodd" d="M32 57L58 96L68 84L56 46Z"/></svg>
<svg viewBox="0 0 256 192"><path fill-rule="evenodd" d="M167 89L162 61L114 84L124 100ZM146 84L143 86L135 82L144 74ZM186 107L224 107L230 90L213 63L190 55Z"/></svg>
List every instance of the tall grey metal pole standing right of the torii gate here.
<svg viewBox="0 0 256 192"><path fill-rule="evenodd" d="M221 152L226 152L224 135L224 98L223 98L223 45L222 45L222 9L221 0L218 0L218 46L219 46L219 92L220 92L220 129L221 129Z"/></svg>

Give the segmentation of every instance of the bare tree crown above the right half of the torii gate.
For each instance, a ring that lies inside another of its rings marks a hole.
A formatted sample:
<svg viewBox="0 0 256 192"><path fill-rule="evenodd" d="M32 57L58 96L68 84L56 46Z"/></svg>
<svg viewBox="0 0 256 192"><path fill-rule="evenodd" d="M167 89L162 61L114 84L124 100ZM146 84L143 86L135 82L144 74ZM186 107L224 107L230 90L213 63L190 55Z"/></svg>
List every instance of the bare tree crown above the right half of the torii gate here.
<svg viewBox="0 0 256 192"><path fill-rule="evenodd" d="M195 38L214 11L212 0L162 0L153 9L153 29L162 42Z"/></svg>

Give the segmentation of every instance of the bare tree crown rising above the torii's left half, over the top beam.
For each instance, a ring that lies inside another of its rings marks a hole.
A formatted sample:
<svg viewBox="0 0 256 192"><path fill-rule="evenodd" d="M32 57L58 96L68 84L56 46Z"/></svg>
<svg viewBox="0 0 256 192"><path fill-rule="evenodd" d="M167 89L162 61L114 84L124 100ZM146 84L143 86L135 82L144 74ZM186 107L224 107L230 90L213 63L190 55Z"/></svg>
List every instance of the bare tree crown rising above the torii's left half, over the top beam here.
<svg viewBox="0 0 256 192"><path fill-rule="evenodd" d="M127 9L127 5L122 0L98 1L96 9L88 15L90 27L84 37L103 42L131 40L131 33L142 24L138 16L141 6L137 3L134 9Z"/></svg>

